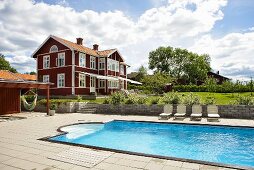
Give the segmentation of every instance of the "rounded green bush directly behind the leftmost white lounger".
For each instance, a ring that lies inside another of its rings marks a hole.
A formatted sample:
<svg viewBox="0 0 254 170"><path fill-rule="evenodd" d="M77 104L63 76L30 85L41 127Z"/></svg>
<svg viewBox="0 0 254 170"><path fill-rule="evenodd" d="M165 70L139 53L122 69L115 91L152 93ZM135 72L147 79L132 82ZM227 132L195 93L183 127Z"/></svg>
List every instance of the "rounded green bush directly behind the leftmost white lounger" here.
<svg viewBox="0 0 254 170"><path fill-rule="evenodd" d="M160 98L160 104L179 104L181 102L181 96L177 92L165 93Z"/></svg>

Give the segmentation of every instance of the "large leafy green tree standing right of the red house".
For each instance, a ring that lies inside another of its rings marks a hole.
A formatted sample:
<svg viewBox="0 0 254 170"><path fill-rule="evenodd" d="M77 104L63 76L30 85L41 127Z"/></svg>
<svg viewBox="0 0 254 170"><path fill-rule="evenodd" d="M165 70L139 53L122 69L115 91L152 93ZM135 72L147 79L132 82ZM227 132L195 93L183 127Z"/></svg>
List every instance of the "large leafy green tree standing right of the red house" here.
<svg viewBox="0 0 254 170"><path fill-rule="evenodd" d="M149 53L149 68L194 84L198 80L204 81L211 70L209 55L170 46L159 47Z"/></svg>

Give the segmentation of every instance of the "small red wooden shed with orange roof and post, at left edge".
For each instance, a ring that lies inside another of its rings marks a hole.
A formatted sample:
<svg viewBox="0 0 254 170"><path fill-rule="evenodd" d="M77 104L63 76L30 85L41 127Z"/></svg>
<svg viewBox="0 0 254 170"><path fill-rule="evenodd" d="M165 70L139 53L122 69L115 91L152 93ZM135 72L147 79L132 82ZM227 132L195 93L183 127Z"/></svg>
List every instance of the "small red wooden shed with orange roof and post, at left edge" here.
<svg viewBox="0 0 254 170"><path fill-rule="evenodd" d="M47 89L47 113L49 112L49 87L51 83L24 80L15 73L0 70L0 115L21 112L22 89Z"/></svg>

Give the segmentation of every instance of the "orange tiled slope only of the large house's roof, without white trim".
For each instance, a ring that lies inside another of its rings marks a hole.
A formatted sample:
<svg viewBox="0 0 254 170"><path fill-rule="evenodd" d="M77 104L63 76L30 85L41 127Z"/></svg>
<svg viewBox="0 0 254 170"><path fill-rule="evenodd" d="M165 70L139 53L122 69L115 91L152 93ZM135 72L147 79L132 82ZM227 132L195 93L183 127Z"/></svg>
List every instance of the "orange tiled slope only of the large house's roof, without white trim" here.
<svg viewBox="0 0 254 170"><path fill-rule="evenodd" d="M85 47L83 45L78 45L78 44L76 44L74 42L71 42L71 41L68 41L68 40L56 37L56 36L52 36L52 37L54 39L56 39L57 41L67 45L68 47L73 48L74 50L81 51L81 52L84 52L84 53L92 55L92 56L107 57L108 54L110 54L110 53L112 53L113 51L116 50L116 49L110 49L110 50L96 51L96 50L93 50L91 48Z"/></svg>

